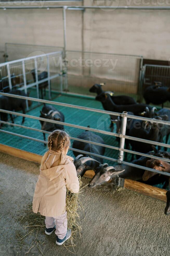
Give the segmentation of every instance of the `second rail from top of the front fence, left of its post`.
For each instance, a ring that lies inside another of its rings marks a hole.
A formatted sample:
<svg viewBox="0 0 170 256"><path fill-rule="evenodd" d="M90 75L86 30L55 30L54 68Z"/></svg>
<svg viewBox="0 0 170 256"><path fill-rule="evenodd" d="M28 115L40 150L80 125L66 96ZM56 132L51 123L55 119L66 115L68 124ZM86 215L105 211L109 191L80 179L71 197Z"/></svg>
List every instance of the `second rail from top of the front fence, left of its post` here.
<svg viewBox="0 0 170 256"><path fill-rule="evenodd" d="M8 114L11 114L11 115L18 115L20 117L27 117L27 118L31 118L31 119L45 121L47 123L60 124L60 125L65 125L65 126L69 126L69 127L74 127L74 128L77 128L77 129L82 129L82 130L87 130L87 131L92 131L92 132L98 132L98 133L102 133L102 134L106 134L106 135L119 137L119 134L117 134L117 133L106 132L106 131L102 131L102 130L98 130L98 129L94 129L94 128L90 128L90 127L81 126L81 125L64 123L64 122L61 122L61 121L50 120L50 119L42 118L42 117L35 117L33 115L22 114L22 113L13 112L13 111L4 110L4 109L0 109L0 112L8 113Z"/></svg>

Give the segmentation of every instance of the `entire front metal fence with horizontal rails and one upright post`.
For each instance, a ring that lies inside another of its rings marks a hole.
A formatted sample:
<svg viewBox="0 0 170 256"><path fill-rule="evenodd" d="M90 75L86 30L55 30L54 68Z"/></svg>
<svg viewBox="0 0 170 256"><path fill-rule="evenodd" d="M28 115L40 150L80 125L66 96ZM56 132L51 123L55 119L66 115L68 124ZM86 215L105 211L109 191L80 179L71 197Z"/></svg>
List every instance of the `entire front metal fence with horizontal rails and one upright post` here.
<svg viewBox="0 0 170 256"><path fill-rule="evenodd" d="M122 117L121 134L118 134L118 133L114 133L114 132L98 130L98 129L94 129L94 128L90 128L90 127L85 127L85 126L80 126L80 125L75 125L75 124L70 124L70 123L64 123L64 122L61 122L61 121L55 121L55 120L40 118L40 117L28 115L28 114L22 114L22 113L18 113L18 112L13 112L13 111L0 109L0 112L2 112L2 113L15 114L17 116L26 117L26 118L30 118L30 119L41 120L41 121L45 121L45 122L49 122L49 123L61 124L61 125L64 125L64 126L74 127L74 128L77 128L77 129L88 130L88 131L92 131L92 132L102 133L102 134L105 134L105 135L120 137L119 147L109 146L109 145L106 145L106 144L96 143L96 142L93 142L93 141L87 141L87 140L84 140L84 139L78 139L78 138L74 138L74 137L71 137L71 139L75 139L75 140L81 141L81 142L88 142L88 143L91 143L91 144L100 145L100 146L103 146L103 147L106 147L106 148L111 148L111 149L115 149L115 150L119 151L119 157L117 159L110 158L110 157L103 156L103 155L90 153L90 155L92 155L92 156L98 156L98 157L103 158L103 159L108 160L108 161L117 162L119 164L126 164L126 165L129 165L129 166L140 168L142 170L147 170L147 171L151 171L151 172L155 172L155 173L159 173L159 174L164 174L166 176L170 176L170 173L167 173L167 172L161 172L161 171L154 170L154 169L151 169L151 168L148 168L148 167L145 167L145 166L140 166L140 165L136 165L136 164L133 164L133 163L123 161L123 154L124 154L124 152L127 152L127 153L131 153L131 154L137 154L137 155L140 155L140 156L146 156L146 157L149 157L149 158L154 158L154 159L159 159L159 160L163 160L163 161L166 161L166 162L170 162L169 159L160 158L160 157L156 157L156 156L147 155L147 154L144 154L144 153L139 153L139 152L135 152L135 151L132 151L132 150L124 149L125 139L135 140L135 141L140 141L140 142L144 142L144 143L149 143L149 144L153 144L153 145L158 145L158 146L163 146L163 147L170 148L169 144L154 142L154 141L141 139L141 138L136 138L136 137L132 137L132 136L127 136L126 135L127 118L139 119L139 120L143 120L143 121L149 121L149 122L154 122L154 123L164 124L164 125L170 125L170 122L160 121L160 120L150 119L150 118L144 118L144 117L136 117L136 116L133 116L133 115L128 115L127 112L123 112L121 114L121 113L115 113L115 112L110 112L110 111L106 111L106 110L76 106L76 105L67 104L67 103L54 102L54 101L52 102L52 101L41 100L41 99L37 99L37 98L6 94L6 93L2 93L2 92L0 92L0 95L6 95L6 96L9 96L9 97L22 98L22 99L25 99L25 100L31 100L31 101L35 101L35 102L54 104L54 105L58 105L58 106L64 106L64 107L75 108L75 109L82 109L82 110L86 110L86 111L88 110L90 112L98 112L98 113L116 115L116 116ZM23 125L19 125L19 124L12 124L12 123L8 123L6 121L2 121L2 123L10 124L12 126L18 126L18 127L33 130L33 131L49 133L47 131L43 131L43 130L40 130L40 129L36 129L36 128L28 127L28 126L23 126ZM22 137L22 138L26 138L26 139L30 139L30 140L34 140L34 141L37 141L37 142L40 142L40 143L47 144L47 141L43 141L41 139L37 139L37 138L33 138L33 137L28 137L28 136L25 136L25 135L22 135L22 134L19 134L19 133L14 133L14 132L2 130L2 129L0 129L0 132L4 132L4 133L7 133L9 135L19 136L19 137ZM86 151L83 151L83 150L78 150L78 149L74 149L74 148L70 148L70 149L73 150L73 151L82 153L82 154L89 154L89 152L86 152Z"/></svg>

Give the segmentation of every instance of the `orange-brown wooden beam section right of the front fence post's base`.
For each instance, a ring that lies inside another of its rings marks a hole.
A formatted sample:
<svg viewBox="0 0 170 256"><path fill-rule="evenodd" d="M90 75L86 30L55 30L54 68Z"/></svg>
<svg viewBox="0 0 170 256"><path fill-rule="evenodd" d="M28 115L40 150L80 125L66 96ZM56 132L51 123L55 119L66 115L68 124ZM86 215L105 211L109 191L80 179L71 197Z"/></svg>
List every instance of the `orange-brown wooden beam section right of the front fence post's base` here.
<svg viewBox="0 0 170 256"><path fill-rule="evenodd" d="M124 188L166 202L166 189L153 187L138 181L132 181L131 179L125 179Z"/></svg>

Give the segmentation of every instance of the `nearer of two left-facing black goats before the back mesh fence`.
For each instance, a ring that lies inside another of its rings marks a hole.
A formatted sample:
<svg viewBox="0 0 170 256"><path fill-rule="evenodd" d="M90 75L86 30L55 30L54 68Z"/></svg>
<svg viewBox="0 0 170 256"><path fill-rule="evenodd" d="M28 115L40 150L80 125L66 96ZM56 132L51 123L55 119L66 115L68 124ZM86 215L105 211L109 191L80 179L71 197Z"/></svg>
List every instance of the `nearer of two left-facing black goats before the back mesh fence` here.
<svg viewBox="0 0 170 256"><path fill-rule="evenodd" d="M122 113L123 111L133 112L134 115L142 115L143 111L145 111L146 107L150 110L152 109L150 106L146 104L132 104L132 105L116 105L110 96L110 94L106 92L102 92L100 95L96 96L96 100L101 101L103 108L108 111Z"/></svg>

